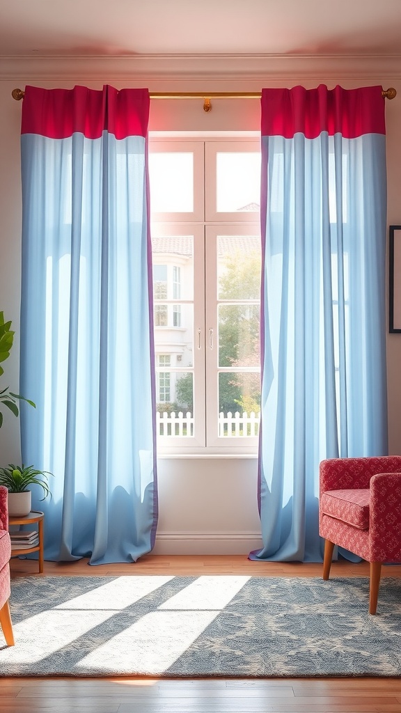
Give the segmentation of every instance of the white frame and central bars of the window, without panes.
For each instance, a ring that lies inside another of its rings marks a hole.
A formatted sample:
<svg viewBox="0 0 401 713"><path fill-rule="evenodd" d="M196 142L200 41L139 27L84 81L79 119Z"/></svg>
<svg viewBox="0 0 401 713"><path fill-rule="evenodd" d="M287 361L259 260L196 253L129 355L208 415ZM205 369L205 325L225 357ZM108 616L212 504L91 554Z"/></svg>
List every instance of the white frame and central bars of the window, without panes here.
<svg viewBox="0 0 401 713"><path fill-rule="evenodd" d="M193 150L194 210L192 213L152 213L151 233L155 237L193 235L193 436L158 436L158 452L182 454L255 454L258 436L229 438L218 436L218 324L217 264L209 247L216 235L260 235L258 211L222 213L215 210L215 156L218 151L237 153L257 150L259 138L225 140L203 136L193 138L152 138L149 152L173 153ZM204 169L205 167L205 169ZM208 168L210 173L208 172ZM205 173L203 173L205 170ZM198 200L196 199L198 192ZM213 200L214 197L214 200ZM200 199L204 205L200 206ZM163 300L170 302L170 300ZM174 302L174 301L172 301ZM180 303L186 300L179 300ZM210 332L213 330L213 332ZM210 342L213 334L213 343ZM158 367L156 366L156 369ZM188 372L188 367L172 366L171 371ZM225 369L220 369L225 371ZM207 392L207 393L206 393ZM207 415L208 414L208 415Z"/></svg>

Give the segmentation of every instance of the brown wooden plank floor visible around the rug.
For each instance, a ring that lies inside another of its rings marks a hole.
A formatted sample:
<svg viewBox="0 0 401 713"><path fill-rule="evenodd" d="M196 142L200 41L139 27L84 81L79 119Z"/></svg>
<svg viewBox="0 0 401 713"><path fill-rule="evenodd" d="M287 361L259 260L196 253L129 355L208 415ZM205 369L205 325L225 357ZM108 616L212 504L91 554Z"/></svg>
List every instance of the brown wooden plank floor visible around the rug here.
<svg viewBox="0 0 401 713"><path fill-rule="evenodd" d="M367 576L369 565L333 563L332 577ZM11 560L13 578L37 574L29 560ZM401 565L383 577L401 577ZM135 565L45 562L46 575L248 574L320 577L322 565L250 562L246 556L148 555ZM1 672L0 672L1 674ZM400 678L322 679L0 679L0 713L401 713Z"/></svg>

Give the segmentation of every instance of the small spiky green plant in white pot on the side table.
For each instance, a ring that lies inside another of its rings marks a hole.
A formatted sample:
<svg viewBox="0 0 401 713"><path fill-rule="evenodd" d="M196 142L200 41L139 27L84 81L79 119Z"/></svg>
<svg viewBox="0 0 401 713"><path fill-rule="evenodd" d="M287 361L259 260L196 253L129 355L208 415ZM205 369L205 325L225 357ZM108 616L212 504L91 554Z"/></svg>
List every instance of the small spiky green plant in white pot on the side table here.
<svg viewBox="0 0 401 713"><path fill-rule="evenodd" d="M31 512L32 493L29 489L31 485L38 485L44 491L44 500L51 497L49 488L49 476L53 476L50 471L38 471L34 466L14 466L9 463L7 468L0 468L0 485L6 486L9 491L9 515L28 515Z"/></svg>

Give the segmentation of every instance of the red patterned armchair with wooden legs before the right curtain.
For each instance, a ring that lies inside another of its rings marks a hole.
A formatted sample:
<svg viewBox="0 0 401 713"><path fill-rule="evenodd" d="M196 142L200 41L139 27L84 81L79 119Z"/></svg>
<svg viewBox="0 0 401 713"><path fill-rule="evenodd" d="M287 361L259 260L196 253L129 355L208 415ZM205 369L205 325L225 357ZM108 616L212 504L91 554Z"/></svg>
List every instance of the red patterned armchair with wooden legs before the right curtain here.
<svg viewBox="0 0 401 713"><path fill-rule="evenodd" d="M335 545L370 562L369 612L375 614L382 563L401 563L401 456L322 461L319 532L324 580Z"/></svg>

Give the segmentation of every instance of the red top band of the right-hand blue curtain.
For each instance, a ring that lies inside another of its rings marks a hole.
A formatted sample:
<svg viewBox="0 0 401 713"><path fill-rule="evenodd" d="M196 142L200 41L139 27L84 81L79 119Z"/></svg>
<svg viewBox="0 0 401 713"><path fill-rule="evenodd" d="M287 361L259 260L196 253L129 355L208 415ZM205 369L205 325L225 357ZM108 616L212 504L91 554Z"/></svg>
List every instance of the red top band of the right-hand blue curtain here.
<svg viewBox="0 0 401 713"><path fill-rule="evenodd" d="M315 89L263 89L261 96L263 136L293 138L303 133L316 138L323 131L357 138L367 133L385 134L385 98L381 86Z"/></svg>

